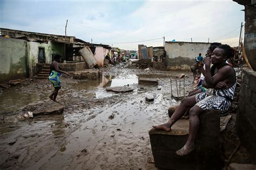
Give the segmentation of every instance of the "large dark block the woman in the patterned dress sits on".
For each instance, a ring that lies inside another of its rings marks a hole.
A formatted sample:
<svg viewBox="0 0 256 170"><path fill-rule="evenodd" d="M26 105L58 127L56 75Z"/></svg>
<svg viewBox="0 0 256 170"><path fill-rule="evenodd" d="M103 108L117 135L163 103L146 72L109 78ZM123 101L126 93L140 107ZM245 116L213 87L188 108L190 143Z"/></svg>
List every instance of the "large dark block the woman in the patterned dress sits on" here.
<svg viewBox="0 0 256 170"><path fill-rule="evenodd" d="M176 151L184 146L187 134L151 129L150 143L156 167L164 169L220 169L220 112L205 112L200 116L200 128L196 148L191 153L179 156ZM180 120L181 121L181 120ZM185 120L182 120L185 121ZM214 122L213 122L214 121Z"/></svg>

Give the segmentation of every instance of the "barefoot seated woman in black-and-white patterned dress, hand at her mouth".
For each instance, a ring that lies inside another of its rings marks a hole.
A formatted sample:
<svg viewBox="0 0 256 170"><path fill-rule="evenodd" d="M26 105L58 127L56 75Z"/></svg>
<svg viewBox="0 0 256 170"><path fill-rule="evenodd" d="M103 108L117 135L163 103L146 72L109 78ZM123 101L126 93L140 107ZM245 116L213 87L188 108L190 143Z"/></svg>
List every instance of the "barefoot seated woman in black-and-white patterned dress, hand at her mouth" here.
<svg viewBox="0 0 256 170"><path fill-rule="evenodd" d="M232 56L233 49L228 45L215 48L211 59L210 57L204 59L207 91L183 98L167 123L153 126L159 130L171 131L172 125L184 115L187 108L191 108L188 138L186 144L176 152L178 155L186 155L194 150L194 139L199 128L201 113L208 110L226 112L231 106L237 83L235 71L226 63L226 60ZM213 66L210 68L211 62Z"/></svg>

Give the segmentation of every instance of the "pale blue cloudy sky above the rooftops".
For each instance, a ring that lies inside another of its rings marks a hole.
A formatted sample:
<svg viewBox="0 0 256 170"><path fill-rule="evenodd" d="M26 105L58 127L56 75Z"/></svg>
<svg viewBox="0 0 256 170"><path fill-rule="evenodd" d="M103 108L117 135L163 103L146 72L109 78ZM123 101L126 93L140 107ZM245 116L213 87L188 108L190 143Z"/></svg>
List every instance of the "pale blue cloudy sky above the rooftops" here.
<svg viewBox="0 0 256 170"><path fill-rule="evenodd" d="M0 27L65 35L68 19L68 36L122 49L163 46L163 37L238 46L242 9L232 0L1 0Z"/></svg>

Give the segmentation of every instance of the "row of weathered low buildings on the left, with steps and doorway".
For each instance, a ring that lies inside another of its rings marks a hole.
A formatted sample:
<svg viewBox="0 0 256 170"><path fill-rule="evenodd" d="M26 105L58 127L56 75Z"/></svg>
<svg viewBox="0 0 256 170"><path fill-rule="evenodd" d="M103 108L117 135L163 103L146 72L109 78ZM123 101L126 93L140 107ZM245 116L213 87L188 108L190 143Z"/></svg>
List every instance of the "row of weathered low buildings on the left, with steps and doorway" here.
<svg viewBox="0 0 256 170"><path fill-rule="evenodd" d="M85 69L85 63L77 64L73 61L81 61L80 49L89 46L95 51L96 47L95 44L90 44L73 36L3 28L0 28L0 33L2 36L0 39L0 74L3 75L0 82L36 75L45 63L53 61L52 56L56 53L63 56L62 60L72 62L62 67L63 69L67 67L66 71ZM111 49L109 45L97 45L97 47L101 46L107 46Z"/></svg>

